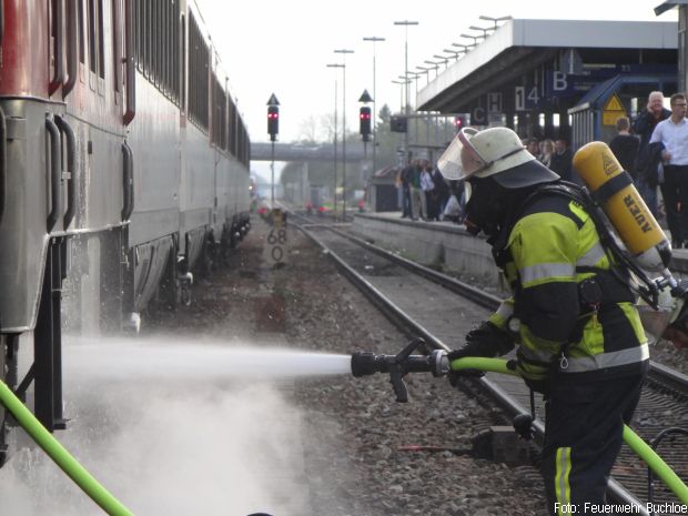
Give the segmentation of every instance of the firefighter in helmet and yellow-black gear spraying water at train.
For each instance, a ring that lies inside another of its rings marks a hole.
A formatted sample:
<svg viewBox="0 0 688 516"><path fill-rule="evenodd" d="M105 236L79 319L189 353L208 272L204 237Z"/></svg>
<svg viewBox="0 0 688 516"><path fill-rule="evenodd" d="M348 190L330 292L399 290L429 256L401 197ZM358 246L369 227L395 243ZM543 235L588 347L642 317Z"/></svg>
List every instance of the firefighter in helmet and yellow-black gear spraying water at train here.
<svg viewBox="0 0 688 516"><path fill-rule="evenodd" d="M585 514L586 503L604 504L649 366L627 271L601 245L578 188L510 129L462 130L439 165L449 180L465 180L466 226L485 233L513 292L449 360L516 347L519 374L546 401L548 510Z"/></svg>

